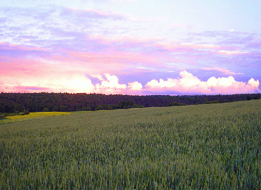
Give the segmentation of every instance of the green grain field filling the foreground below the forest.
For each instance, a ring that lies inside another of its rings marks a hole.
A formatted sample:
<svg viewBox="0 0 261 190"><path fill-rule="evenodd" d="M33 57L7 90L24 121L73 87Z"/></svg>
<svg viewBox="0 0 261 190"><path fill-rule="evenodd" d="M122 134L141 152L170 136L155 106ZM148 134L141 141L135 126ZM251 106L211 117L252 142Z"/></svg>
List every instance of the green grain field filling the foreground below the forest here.
<svg viewBox="0 0 261 190"><path fill-rule="evenodd" d="M0 189L261 189L261 99L0 123Z"/></svg>

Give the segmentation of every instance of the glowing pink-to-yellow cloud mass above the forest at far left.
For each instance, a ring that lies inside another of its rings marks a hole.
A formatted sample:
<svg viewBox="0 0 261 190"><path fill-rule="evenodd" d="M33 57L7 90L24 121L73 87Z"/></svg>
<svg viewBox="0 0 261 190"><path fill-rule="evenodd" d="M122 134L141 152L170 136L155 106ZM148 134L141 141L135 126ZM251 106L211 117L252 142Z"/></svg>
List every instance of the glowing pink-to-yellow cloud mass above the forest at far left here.
<svg viewBox="0 0 261 190"><path fill-rule="evenodd" d="M1 92L90 93L94 89L83 68L75 69L64 60L56 63L51 59L50 63L25 57L0 56Z"/></svg>

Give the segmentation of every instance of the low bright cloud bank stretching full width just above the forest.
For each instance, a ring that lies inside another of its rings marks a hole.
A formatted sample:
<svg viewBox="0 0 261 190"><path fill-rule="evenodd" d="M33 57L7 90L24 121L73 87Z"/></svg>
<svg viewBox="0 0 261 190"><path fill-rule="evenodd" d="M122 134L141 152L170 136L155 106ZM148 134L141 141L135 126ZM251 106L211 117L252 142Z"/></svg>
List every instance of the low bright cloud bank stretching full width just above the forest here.
<svg viewBox="0 0 261 190"><path fill-rule="evenodd" d="M93 75L94 76L94 75ZM259 80L250 79L248 83L238 82L232 76L215 78L211 77L207 81L201 81L187 71L180 72L180 78L166 81L153 79L143 88L142 84L135 81L132 83L119 84L115 75L105 74L106 79L101 75L95 76L100 83L93 85L86 76L71 76L59 79L41 79L37 82L31 80L20 80L19 78L4 78L4 83L0 83L2 92L67 92L67 93L100 93L100 94L241 94L260 93ZM16 81L16 82L13 82ZM18 82L17 82L18 81ZM34 80L33 80L34 81Z"/></svg>

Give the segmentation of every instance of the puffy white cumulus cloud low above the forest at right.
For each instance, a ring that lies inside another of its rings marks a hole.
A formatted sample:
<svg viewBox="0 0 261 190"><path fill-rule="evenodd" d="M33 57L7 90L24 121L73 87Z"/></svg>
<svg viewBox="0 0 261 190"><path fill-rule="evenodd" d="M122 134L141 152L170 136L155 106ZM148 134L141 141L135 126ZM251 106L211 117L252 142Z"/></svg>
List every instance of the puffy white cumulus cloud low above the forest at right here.
<svg viewBox="0 0 261 190"><path fill-rule="evenodd" d="M250 79L248 83L238 82L234 77L215 78L211 77L204 82L187 71L180 72L178 79L151 80L145 87L147 90L157 92L170 92L182 94L239 94L260 92L259 80Z"/></svg>

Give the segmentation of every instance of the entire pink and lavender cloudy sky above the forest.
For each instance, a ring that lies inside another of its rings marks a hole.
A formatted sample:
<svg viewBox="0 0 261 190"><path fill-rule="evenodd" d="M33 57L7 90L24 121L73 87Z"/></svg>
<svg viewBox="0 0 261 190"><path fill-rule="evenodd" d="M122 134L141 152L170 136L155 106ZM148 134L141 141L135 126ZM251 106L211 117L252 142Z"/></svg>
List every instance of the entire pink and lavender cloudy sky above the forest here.
<svg viewBox="0 0 261 190"><path fill-rule="evenodd" d="M1 0L0 92L261 93L261 0Z"/></svg>

